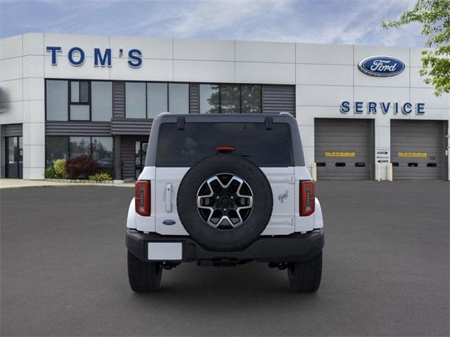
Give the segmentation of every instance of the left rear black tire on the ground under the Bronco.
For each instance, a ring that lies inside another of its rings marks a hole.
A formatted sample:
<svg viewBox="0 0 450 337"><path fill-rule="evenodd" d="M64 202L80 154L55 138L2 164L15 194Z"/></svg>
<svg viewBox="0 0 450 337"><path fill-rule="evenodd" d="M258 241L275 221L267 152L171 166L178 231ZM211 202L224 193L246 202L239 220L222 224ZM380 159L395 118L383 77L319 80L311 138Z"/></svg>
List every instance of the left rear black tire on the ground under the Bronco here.
<svg viewBox="0 0 450 337"><path fill-rule="evenodd" d="M159 263L143 262L128 251L128 279L131 290L150 293L160 289L162 268Z"/></svg>

